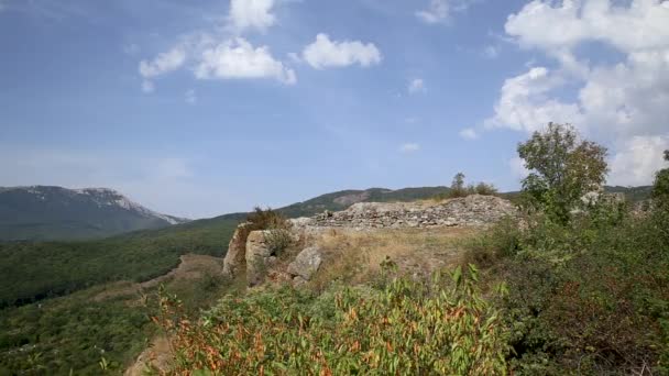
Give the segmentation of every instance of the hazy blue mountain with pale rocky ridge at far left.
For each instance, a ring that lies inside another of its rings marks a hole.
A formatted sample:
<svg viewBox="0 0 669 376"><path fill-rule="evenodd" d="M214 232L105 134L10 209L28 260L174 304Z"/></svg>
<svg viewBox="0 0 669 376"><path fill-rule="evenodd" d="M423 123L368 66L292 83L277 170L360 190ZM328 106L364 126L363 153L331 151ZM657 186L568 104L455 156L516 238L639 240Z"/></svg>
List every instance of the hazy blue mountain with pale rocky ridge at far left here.
<svg viewBox="0 0 669 376"><path fill-rule="evenodd" d="M188 222L106 188L0 187L0 240L75 240Z"/></svg>

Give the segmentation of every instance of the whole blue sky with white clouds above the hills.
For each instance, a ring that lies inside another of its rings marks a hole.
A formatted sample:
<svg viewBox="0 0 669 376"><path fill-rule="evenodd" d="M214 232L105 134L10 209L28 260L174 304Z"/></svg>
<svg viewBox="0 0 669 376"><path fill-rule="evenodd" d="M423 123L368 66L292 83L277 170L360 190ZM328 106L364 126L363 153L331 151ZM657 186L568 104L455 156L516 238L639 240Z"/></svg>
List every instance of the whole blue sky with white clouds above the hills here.
<svg viewBox="0 0 669 376"><path fill-rule="evenodd" d="M459 170L515 189L548 121L610 147L611 184L669 147L659 0L0 0L0 186L190 218Z"/></svg>

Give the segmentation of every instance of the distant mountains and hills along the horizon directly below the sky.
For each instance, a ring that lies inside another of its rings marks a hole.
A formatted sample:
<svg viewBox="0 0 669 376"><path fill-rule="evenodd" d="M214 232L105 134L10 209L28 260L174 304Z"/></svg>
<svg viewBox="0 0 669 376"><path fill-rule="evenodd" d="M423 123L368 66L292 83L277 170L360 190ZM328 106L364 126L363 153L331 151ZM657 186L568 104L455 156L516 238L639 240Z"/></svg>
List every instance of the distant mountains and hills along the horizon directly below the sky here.
<svg viewBox="0 0 669 376"><path fill-rule="evenodd" d="M443 196L449 190L442 186L396 190L350 189L321 195L277 210L289 218L309 217L325 210L343 210L355 202L414 201ZM650 193L650 187L605 187L605 190L623 193L630 201L643 200ZM513 199L516 193L501 196ZM193 225L197 226L200 221L240 221L244 217L245 213L223 214L194 221ZM0 241L85 240L187 222L190 221L150 210L108 188L0 187Z"/></svg>

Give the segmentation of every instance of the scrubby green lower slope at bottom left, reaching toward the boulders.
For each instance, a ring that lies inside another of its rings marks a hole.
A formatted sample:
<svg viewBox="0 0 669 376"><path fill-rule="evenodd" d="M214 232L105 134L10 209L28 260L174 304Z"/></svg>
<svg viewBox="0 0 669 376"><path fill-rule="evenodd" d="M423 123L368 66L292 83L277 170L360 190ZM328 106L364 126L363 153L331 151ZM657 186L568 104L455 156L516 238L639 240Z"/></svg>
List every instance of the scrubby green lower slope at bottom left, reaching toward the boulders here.
<svg viewBox="0 0 669 376"><path fill-rule="evenodd" d="M188 273L164 284L165 292L184 297L185 311L194 314L237 287L221 278L220 261L189 258ZM0 310L0 375L122 374L156 334L154 285L109 284Z"/></svg>

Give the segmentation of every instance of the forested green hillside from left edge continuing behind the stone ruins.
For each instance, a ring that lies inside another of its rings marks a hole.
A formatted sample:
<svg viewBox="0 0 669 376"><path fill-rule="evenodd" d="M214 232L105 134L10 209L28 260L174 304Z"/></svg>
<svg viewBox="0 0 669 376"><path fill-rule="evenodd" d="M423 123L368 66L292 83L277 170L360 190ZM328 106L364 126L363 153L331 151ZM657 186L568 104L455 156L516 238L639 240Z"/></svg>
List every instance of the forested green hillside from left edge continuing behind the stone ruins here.
<svg viewBox="0 0 669 376"><path fill-rule="evenodd" d="M634 200L648 187L608 187ZM290 218L342 210L361 201L413 201L448 192L446 187L342 190L278 211ZM501 196L513 196L504 193ZM0 243L0 308L66 295L111 280L146 280L167 273L187 253L223 256L237 224L246 213L196 220L86 242ZM20 266L20 267L17 267Z"/></svg>

